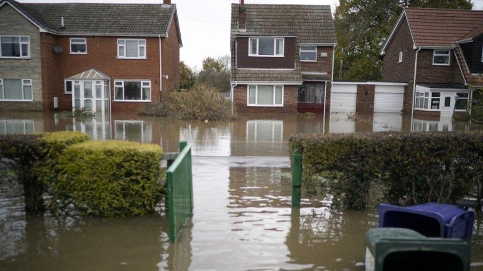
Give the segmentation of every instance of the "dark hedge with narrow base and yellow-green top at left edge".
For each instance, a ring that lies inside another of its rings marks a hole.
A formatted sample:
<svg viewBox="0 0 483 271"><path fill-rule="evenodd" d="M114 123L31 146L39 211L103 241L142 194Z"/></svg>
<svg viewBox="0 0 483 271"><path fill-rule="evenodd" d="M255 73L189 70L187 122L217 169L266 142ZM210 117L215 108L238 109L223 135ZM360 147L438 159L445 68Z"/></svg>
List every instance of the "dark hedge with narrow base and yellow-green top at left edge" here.
<svg viewBox="0 0 483 271"><path fill-rule="evenodd" d="M24 186L26 211L44 210L46 181L54 174L57 157L67 146L88 139L79 132L0 136L0 157L14 161L13 170Z"/></svg>

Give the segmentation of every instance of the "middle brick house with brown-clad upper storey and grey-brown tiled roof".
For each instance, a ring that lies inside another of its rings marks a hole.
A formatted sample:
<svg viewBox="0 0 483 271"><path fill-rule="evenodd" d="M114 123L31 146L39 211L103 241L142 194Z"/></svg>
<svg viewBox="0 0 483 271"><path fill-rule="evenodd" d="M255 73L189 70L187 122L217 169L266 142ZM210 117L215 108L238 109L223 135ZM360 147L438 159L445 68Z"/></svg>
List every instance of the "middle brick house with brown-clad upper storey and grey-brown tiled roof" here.
<svg viewBox="0 0 483 271"><path fill-rule="evenodd" d="M328 110L335 46L329 5L232 4L235 107L252 113Z"/></svg>

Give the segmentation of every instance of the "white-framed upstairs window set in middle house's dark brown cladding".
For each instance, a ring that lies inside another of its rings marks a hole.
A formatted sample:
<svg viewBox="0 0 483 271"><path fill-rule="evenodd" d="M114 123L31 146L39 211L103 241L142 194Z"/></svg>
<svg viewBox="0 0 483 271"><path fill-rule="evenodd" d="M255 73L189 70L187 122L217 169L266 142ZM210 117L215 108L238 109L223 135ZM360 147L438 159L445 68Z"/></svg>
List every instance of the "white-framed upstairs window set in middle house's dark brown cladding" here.
<svg viewBox="0 0 483 271"><path fill-rule="evenodd" d="M283 38L250 38L248 39L248 56L284 56Z"/></svg>

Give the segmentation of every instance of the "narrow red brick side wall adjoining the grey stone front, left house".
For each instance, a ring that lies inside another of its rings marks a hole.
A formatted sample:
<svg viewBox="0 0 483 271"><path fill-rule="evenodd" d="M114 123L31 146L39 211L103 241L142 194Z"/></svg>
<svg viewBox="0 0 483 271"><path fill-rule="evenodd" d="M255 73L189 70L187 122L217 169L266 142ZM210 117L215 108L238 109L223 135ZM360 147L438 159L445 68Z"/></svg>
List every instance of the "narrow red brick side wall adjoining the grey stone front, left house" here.
<svg viewBox="0 0 483 271"><path fill-rule="evenodd" d="M53 46L56 45L57 38L52 34L41 33L40 39L43 107L45 111L52 111L54 109L53 97L58 97L57 87L59 84L57 77L58 56L52 50Z"/></svg>

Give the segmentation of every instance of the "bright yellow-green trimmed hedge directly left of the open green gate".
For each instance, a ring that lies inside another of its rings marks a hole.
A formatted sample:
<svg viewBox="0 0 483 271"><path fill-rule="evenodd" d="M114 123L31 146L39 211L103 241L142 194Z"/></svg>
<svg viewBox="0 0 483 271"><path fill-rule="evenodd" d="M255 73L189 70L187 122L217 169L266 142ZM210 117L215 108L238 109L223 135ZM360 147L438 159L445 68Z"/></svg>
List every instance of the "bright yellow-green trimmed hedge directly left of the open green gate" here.
<svg viewBox="0 0 483 271"><path fill-rule="evenodd" d="M73 204L86 215L143 215L162 198L158 145L88 141L67 148L58 159L54 208Z"/></svg>

